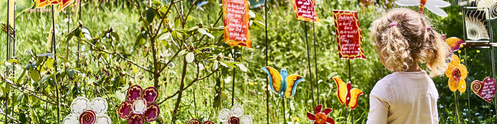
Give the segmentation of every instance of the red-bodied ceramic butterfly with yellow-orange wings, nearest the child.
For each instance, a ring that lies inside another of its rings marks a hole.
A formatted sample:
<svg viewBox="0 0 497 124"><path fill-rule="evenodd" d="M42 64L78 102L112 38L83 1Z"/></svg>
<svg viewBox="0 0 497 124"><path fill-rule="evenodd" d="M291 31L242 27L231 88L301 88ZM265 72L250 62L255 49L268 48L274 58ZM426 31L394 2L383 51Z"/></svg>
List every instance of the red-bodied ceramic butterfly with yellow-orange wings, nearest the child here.
<svg viewBox="0 0 497 124"><path fill-rule="evenodd" d="M345 84L343 83L343 80L338 77L333 77L333 80L335 80L336 86L338 87L338 101L340 101L341 104L345 103L345 108L348 106L350 109L355 109L355 107L357 107L357 99L362 95L362 91L357 88L350 89L350 81Z"/></svg>

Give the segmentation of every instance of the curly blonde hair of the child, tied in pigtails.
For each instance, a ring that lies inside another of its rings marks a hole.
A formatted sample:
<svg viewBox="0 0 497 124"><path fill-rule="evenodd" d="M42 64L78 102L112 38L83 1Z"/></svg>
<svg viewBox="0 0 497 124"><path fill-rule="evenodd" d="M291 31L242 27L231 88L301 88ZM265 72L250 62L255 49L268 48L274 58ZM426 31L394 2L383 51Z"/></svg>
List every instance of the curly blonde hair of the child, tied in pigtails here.
<svg viewBox="0 0 497 124"><path fill-rule="evenodd" d="M372 23L370 33L385 64L405 71L416 63L426 63L430 77L444 74L450 48L442 36L430 28L432 23L408 8L394 8Z"/></svg>

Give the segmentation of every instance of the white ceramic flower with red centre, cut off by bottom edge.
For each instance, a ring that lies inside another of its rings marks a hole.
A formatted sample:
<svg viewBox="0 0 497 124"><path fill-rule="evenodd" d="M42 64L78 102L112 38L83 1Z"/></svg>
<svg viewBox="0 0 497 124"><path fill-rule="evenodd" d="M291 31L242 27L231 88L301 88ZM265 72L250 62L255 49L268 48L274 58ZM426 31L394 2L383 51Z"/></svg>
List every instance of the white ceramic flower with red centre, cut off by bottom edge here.
<svg viewBox="0 0 497 124"><path fill-rule="evenodd" d="M219 111L218 118L222 124L253 124L252 117L244 115L244 113L244 107L240 104L236 104L231 107L231 110L222 109Z"/></svg>

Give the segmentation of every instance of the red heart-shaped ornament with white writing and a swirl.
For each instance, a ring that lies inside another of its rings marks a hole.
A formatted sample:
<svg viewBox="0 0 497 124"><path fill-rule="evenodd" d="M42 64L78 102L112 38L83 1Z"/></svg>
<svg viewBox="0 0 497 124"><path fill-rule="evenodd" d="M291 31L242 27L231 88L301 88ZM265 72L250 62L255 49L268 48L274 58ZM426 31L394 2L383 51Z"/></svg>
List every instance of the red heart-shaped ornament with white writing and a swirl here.
<svg viewBox="0 0 497 124"><path fill-rule="evenodd" d="M491 103L496 95L497 83L491 77L485 78L483 81L475 80L471 83L471 90L480 98Z"/></svg>

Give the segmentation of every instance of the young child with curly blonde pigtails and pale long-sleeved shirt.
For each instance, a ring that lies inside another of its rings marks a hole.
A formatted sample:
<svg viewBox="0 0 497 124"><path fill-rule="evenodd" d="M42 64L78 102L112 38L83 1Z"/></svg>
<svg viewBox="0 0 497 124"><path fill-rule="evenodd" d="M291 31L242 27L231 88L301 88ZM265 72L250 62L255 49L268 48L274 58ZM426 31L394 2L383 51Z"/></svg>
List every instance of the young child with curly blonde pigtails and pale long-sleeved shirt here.
<svg viewBox="0 0 497 124"><path fill-rule="evenodd" d="M392 9L372 25L380 61L394 72L371 90L367 124L438 124L438 91L430 77L447 69L449 46L427 17L411 9Z"/></svg>

